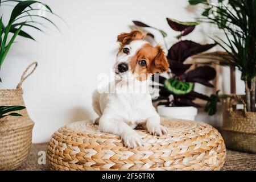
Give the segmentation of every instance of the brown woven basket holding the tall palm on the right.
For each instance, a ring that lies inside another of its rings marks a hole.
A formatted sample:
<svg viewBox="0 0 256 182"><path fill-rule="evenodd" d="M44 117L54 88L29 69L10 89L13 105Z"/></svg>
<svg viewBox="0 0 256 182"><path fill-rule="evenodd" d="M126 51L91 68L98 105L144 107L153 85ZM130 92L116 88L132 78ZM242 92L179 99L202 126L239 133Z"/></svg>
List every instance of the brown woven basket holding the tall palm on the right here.
<svg viewBox="0 0 256 182"><path fill-rule="evenodd" d="M256 113L228 111L221 131L227 148L256 153Z"/></svg>

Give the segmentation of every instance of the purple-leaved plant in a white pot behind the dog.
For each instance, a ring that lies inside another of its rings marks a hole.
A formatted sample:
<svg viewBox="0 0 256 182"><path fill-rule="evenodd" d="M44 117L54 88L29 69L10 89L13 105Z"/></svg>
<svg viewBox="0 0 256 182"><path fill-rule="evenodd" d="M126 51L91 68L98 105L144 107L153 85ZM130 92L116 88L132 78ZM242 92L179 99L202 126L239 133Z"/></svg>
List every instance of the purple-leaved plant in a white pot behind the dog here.
<svg viewBox="0 0 256 182"><path fill-rule="evenodd" d="M151 27L139 21L133 22L140 27ZM173 30L180 32L176 36L179 41L168 49L167 59L170 70L167 76L158 75L158 80L153 77L153 81L157 82L159 86L159 97L153 101L160 101L157 110L163 117L195 120L196 107L201 107L201 105L194 100L196 98L205 101L211 100L207 95L195 92L195 83L213 88L214 86L209 81L216 76L216 71L209 65L189 70L192 64L184 62L188 57L207 51L216 44L201 45L191 40L183 40L183 37L190 34L200 22L180 22L167 18L167 23ZM164 38L167 36L163 30L159 31ZM154 35L149 35L154 38ZM208 109L208 111L210 111L209 114L214 114L212 110Z"/></svg>

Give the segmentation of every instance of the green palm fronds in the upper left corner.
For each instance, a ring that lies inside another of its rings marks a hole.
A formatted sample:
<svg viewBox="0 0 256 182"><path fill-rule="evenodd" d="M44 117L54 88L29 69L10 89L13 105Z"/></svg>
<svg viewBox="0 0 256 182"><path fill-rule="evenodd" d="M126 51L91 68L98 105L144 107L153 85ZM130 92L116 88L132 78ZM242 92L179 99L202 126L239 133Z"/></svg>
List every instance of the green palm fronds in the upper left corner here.
<svg viewBox="0 0 256 182"><path fill-rule="evenodd" d="M7 5L6 3L16 3L16 5L11 12L10 19L7 24L3 23L3 15L0 14L0 69L3 61L6 58L7 53L10 50L10 47L13 45L14 40L17 36L22 36L24 38L35 40L30 34L22 30L24 27L30 27L34 30L42 31L41 26L43 26L43 23L39 22L39 20L45 20L50 22L51 24L53 24L53 26L57 28L55 23L53 23L50 19L36 14L39 11L46 11L49 14L53 14L51 8L42 2L0 0L0 9L3 5ZM36 3L43 6L45 10L34 8L33 5ZM34 20L34 18L36 18L36 20Z"/></svg>

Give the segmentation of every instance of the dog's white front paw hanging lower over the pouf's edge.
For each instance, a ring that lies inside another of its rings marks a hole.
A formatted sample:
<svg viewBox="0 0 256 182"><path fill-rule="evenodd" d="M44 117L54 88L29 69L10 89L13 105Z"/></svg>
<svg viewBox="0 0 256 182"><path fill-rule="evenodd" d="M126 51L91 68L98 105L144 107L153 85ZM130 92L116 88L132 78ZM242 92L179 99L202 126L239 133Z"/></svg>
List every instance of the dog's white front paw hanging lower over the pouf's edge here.
<svg viewBox="0 0 256 182"><path fill-rule="evenodd" d="M125 143L125 146L129 148L142 146L141 136L139 136L137 132L125 134L123 136L123 142Z"/></svg>

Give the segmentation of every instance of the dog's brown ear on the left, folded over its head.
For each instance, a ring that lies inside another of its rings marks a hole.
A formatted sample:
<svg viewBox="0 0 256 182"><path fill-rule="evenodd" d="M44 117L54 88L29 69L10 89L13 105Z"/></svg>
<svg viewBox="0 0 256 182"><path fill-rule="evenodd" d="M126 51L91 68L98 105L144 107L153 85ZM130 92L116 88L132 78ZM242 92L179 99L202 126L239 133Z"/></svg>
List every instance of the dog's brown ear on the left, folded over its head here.
<svg viewBox="0 0 256 182"><path fill-rule="evenodd" d="M146 33L140 30L133 30L129 33L122 33L117 36L117 42L121 44L129 44L132 40L142 40Z"/></svg>

